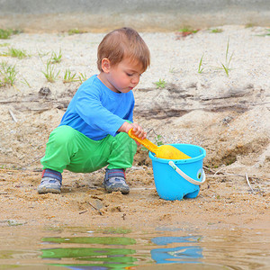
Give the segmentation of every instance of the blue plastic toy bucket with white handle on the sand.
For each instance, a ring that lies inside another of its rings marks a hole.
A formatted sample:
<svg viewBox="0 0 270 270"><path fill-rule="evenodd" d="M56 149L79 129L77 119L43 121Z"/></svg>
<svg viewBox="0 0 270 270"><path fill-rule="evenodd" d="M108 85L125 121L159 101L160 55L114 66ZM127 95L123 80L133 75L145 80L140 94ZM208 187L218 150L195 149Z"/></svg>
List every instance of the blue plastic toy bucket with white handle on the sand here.
<svg viewBox="0 0 270 270"><path fill-rule="evenodd" d="M149 152L157 193L160 198L169 201L195 198L200 191L200 184L205 181L202 160L206 152L203 148L192 144L172 144L172 146L191 158L170 160L154 157L154 154Z"/></svg>

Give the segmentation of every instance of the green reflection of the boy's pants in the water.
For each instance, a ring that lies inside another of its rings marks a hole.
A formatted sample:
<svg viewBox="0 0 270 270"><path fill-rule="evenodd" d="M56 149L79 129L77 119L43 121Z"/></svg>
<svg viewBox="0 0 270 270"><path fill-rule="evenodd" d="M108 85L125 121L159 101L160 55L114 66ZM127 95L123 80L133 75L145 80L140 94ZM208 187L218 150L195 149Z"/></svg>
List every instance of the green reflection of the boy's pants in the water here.
<svg viewBox="0 0 270 270"><path fill-rule="evenodd" d="M42 238L43 243L58 244L96 244L99 247L59 247L41 249L43 259L73 259L72 264L57 263L50 266L66 266L70 269L103 270L134 266L137 261L130 255L134 249L125 248L136 244L133 238L99 237L99 238ZM106 245L106 247L100 247ZM112 246L112 247L108 247ZM76 263L74 263L76 260Z"/></svg>

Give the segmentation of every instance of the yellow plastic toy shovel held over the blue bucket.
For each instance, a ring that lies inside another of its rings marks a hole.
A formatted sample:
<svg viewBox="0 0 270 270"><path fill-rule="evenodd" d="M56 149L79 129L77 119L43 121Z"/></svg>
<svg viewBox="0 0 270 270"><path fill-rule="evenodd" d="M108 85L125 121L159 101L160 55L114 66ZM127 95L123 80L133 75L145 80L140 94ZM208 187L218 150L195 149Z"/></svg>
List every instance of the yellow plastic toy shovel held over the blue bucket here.
<svg viewBox="0 0 270 270"><path fill-rule="evenodd" d="M161 145L157 146L148 139L140 139L137 137L132 129L129 130L130 138L137 140L145 148L148 148L149 151L156 154L156 157L165 158L165 159L187 159L191 158L185 155L183 152L171 145Z"/></svg>

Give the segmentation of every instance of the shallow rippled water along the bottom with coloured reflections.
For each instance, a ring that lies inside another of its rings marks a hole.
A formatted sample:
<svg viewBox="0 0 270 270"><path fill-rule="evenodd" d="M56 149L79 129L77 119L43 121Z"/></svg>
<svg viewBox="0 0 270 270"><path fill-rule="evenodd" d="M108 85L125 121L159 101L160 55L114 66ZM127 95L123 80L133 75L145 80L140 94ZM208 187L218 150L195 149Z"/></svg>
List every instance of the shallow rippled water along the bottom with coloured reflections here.
<svg viewBox="0 0 270 270"><path fill-rule="evenodd" d="M270 231L2 226L0 269L270 269Z"/></svg>

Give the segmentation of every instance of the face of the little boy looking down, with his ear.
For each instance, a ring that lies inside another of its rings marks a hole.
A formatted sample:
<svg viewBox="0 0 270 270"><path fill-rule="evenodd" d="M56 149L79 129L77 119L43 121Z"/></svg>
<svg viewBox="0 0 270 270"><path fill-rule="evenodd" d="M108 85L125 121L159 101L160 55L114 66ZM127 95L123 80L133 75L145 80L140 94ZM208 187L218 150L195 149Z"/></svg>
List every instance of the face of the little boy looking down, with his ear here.
<svg viewBox="0 0 270 270"><path fill-rule="evenodd" d="M128 93L139 84L139 77L143 73L142 65L138 61L123 58L120 63L112 66L110 60L103 59L103 84L116 93Z"/></svg>

